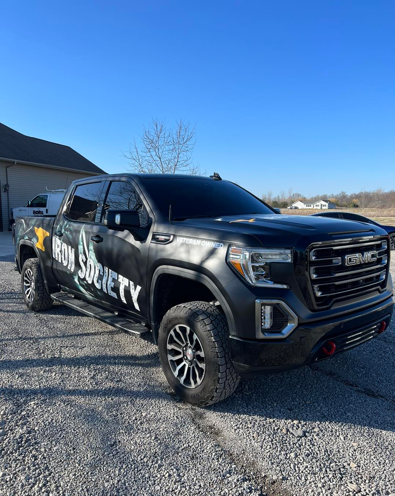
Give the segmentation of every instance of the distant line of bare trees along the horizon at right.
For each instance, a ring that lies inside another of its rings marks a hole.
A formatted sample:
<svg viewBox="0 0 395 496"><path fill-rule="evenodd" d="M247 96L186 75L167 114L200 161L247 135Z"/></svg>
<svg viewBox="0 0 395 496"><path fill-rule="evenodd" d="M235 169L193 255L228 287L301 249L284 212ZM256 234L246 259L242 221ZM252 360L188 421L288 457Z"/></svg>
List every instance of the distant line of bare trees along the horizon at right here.
<svg viewBox="0 0 395 496"><path fill-rule="evenodd" d="M359 191L358 193L348 194L340 191L336 194L317 194L306 197L300 193L294 193L292 188L288 191L280 191L280 194L273 195L268 191L262 195L262 199L273 207L286 208L296 200L304 203L314 203L318 200L333 201L339 208L394 208L395 207L395 189L384 191L382 188L374 191Z"/></svg>

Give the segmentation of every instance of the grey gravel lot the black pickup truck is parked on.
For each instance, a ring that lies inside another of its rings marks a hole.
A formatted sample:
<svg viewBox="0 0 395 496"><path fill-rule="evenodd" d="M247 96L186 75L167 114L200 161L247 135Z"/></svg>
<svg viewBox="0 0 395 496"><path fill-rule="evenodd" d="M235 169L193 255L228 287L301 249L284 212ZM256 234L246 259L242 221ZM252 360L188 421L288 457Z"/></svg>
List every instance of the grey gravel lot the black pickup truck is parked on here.
<svg viewBox="0 0 395 496"><path fill-rule="evenodd" d="M0 329L1 495L395 493L394 323L206 409L172 394L150 336L29 312L11 258Z"/></svg>

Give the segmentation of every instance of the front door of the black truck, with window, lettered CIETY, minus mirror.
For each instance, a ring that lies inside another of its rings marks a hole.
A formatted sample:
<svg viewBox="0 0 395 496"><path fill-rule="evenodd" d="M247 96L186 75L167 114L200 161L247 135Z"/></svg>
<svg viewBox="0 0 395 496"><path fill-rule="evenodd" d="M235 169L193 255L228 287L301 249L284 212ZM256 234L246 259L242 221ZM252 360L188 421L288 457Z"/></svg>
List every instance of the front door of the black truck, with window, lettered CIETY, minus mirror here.
<svg viewBox="0 0 395 496"><path fill-rule="evenodd" d="M148 226L148 205L128 179L111 181L104 200L107 210L137 210L140 225ZM102 215L103 217L103 215ZM113 308L131 312L145 318L148 248L151 234L137 241L133 233L109 229L100 222L91 225L89 248L93 253L88 280L94 288L95 298Z"/></svg>

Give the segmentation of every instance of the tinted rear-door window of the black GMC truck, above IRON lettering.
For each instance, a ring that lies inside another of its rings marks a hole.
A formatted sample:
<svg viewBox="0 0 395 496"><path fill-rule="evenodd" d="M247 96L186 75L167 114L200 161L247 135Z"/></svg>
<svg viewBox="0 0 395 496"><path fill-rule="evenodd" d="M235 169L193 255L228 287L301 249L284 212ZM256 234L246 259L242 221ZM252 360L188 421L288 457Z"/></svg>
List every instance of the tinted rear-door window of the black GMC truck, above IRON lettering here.
<svg viewBox="0 0 395 496"><path fill-rule="evenodd" d="M70 203L67 217L71 220L92 222L95 218L103 183L77 186Z"/></svg>

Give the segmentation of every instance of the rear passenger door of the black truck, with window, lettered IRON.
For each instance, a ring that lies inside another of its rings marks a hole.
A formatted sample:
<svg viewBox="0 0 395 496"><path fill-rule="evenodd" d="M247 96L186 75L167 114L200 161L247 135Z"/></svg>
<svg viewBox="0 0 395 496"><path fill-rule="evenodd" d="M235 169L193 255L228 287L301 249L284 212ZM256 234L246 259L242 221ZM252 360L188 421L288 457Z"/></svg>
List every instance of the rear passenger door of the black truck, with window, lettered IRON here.
<svg viewBox="0 0 395 496"><path fill-rule="evenodd" d="M105 181L77 183L59 210L53 230L53 268L63 290L93 296L85 273L90 259L89 230L101 216Z"/></svg>

